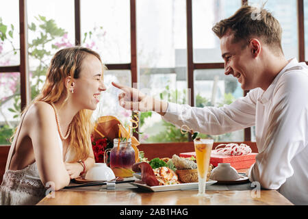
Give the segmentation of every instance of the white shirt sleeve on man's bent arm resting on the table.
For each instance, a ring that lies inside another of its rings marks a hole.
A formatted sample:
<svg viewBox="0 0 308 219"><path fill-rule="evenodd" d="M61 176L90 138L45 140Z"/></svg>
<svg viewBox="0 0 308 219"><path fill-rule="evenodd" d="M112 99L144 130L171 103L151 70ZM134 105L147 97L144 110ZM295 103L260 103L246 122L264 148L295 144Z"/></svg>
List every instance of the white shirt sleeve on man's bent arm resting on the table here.
<svg viewBox="0 0 308 219"><path fill-rule="evenodd" d="M259 181L262 188L279 189L294 174L291 161L307 144L307 84L307 73L298 71L277 82L266 140L248 174L250 181Z"/></svg>

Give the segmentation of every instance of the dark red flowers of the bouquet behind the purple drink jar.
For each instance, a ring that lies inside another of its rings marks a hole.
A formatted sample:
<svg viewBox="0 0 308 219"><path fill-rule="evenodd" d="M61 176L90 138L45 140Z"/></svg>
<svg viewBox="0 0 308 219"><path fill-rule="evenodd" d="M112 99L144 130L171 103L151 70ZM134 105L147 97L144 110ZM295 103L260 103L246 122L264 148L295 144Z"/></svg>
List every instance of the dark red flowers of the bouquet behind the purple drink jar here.
<svg viewBox="0 0 308 219"><path fill-rule="evenodd" d="M103 163L105 150L112 149L113 142L106 137L94 140L93 136L91 136L91 142L92 142L92 149L94 153L95 162Z"/></svg>

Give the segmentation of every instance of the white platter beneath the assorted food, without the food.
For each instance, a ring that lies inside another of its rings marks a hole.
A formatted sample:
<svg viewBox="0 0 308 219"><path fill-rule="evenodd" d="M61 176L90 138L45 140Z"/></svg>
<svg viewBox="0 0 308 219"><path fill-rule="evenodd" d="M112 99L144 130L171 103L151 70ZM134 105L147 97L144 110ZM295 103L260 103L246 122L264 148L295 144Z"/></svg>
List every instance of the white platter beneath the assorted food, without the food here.
<svg viewBox="0 0 308 219"><path fill-rule="evenodd" d="M214 184L214 183L217 183L217 181L209 179L209 181L206 182L206 186ZM198 183L181 183L181 184L175 184L175 185L149 186L146 184L142 184L142 181L136 181L135 183L131 183L131 185L136 185L138 188L142 190L149 190L152 192L198 189Z"/></svg>

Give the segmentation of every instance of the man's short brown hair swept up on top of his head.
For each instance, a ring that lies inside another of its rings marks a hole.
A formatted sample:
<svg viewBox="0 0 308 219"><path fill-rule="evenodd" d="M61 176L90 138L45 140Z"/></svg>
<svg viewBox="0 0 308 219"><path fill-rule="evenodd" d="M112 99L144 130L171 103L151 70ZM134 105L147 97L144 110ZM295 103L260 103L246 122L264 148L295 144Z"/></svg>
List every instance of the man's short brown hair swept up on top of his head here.
<svg viewBox="0 0 308 219"><path fill-rule="evenodd" d="M281 47L282 28L274 16L264 8L256 8L251 5L243 5L231 17L216 23L212 30L222 38L229 29L233 34L233 43L246 41L249 38L259 37L262 42L268 44L275 53L283 53Z"/></svg>

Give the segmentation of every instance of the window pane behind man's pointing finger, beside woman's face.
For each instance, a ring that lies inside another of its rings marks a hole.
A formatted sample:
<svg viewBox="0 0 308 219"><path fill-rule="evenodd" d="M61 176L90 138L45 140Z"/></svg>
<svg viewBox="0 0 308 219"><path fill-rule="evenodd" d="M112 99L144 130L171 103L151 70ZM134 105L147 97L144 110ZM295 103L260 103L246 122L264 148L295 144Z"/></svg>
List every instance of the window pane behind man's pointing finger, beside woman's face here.
<svg viewBox="0 0 308 219"><path fill-rule="evenodd" d="M96 120L100 116L116 116L120 122L127 127L130 124L131 111L120 107L118 103L118 94L120 90L112 86L112 81L131 86L130 70L107 70L104 73L104 83L107 88L101 92L101 100L97 105L97 110L93 112L93 118Z"/></svg>

